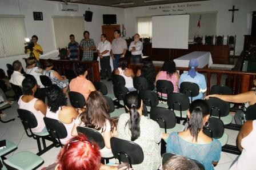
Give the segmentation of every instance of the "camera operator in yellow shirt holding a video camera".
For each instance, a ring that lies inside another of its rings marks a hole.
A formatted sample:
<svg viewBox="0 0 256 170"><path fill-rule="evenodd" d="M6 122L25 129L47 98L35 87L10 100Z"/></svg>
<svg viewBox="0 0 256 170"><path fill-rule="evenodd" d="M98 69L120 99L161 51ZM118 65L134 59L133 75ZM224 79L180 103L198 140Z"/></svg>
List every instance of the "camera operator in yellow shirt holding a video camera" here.
<svg viewBox="0 0 256 170"><path fill-rule="evenodd" d="M31 49L25 47L25 54L27 54L27 52L29 52L29 54L31 54L31 52L33 53L30 56L35 56L35 58L37 59L37 66L41 66L40 62L39 62L39 55L43 54L43 49L42 47L37 43L38 41L38 37L37 35L33 35L31 38L32 42L34 43L34 47Z"/></svg>

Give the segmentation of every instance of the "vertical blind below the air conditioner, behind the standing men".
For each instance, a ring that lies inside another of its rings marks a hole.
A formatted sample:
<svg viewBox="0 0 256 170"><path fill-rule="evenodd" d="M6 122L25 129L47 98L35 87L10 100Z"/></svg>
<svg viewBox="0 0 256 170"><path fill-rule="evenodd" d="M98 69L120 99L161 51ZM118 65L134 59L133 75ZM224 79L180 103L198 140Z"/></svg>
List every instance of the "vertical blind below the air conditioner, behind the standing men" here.
<svg viewBox="0 0 256 170"><path fill-rule="evenodd" d="M83 18L53 16L54 34L57 48L65 48L69 44L69 35L75 35L75 41L80 43L85 30Z"/></svg>

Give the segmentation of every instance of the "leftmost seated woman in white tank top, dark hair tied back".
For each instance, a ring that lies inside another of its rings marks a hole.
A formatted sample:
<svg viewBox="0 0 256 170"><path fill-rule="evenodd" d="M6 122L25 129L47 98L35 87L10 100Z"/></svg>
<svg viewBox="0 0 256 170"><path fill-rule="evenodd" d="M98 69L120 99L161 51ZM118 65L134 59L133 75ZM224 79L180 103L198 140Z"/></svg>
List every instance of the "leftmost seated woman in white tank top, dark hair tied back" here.
<svg viewBox="0 0 256 170"><path fill-rule="evenodd" d="M43 117L46 115L46 106L42 100L35 98L37 91L37 80L33 76L29 76L22 81L23 95L19 98L19 108L28 110L35 115L37 119L37 127L32 128L32 132L41 133L46 132L45 122Z"/></svg>

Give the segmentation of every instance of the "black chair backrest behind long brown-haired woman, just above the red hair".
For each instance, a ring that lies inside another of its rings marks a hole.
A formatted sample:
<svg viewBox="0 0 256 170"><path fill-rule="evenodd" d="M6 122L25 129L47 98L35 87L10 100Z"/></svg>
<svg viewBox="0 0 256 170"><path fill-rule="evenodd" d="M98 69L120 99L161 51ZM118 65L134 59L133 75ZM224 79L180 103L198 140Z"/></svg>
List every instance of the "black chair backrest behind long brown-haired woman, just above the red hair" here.
<svg viewBox="0 0 256 170"><path fill-rule="evenodd" d="M97 143L99 148L103 149L105 147L103 136L96 129L78 126L77 132L83 133L88 140Z"/></svg>

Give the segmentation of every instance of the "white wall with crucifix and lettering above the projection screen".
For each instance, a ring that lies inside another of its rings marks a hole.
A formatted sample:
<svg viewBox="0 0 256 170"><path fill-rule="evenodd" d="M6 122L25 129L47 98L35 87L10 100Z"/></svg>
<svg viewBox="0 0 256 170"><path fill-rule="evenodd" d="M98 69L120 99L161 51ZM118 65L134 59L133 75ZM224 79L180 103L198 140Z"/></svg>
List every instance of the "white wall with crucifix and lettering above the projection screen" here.
<svg viewBox="0 0 256 170"><path fill-rule="evenodd" d="M187 6L191 4L201 4L200 6ZM185 5L185 6L183 6ZM235 5L234 22L231 22L232 9ZM169 6L167 9L159 9L159 6ZM175 7L174 7L175 6ZM181 6L181 7L178 7ZM155 7L157 9L152 10ZM175 11L174 11L175 10ZM182 10L182 11L180 11ZM251 14L256 10L255 0L211 0L189 3L171 3L166 5L142 6L125 9L125 27L126 36L132 37L137 31L136 17L146 17L151 15L169 15L169 14L185 14L185 13L207 13L218 11L217 14L217 35L237 35L236 55L243 50L243 35L250 34ZM195 23L197 24L197 23ZM205 35L204 35L205 36ZM226 43L226 39L224 41Z"/></svg>

